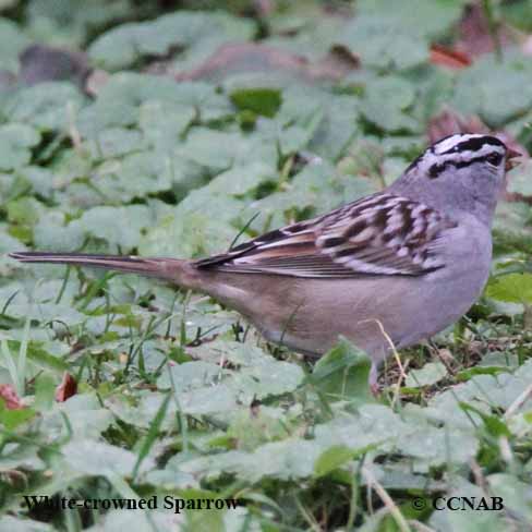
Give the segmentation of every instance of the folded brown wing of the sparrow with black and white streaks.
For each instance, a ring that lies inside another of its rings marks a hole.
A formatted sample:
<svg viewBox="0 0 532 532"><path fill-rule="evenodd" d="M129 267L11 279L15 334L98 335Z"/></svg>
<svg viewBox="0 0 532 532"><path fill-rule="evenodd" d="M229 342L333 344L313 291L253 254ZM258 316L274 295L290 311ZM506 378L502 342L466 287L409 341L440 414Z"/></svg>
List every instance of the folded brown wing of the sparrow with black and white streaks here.
<svg viewBox="0 0 532 532"><path fill-rule="evenodd" d="M338 278L418 276L444 266L436 242L455 223L437 210L377 193L197 261L222 271Z"/></svg>

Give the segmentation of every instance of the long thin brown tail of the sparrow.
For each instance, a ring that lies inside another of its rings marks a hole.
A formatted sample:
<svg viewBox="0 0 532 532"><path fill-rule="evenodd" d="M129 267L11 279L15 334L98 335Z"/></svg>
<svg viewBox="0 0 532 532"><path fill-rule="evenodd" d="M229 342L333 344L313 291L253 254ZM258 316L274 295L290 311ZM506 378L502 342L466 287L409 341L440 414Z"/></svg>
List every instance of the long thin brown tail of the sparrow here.
<svg viewBox="0 0 532 532"><path fill-rule="evenodd" d="M21 263L69 264L94 268L113 269L131 274L158 277L184 288L195 288L196 269L190 261L177 258L143 258L120 255L88 255L84 253L17 252L10 257Z"/></svg>

